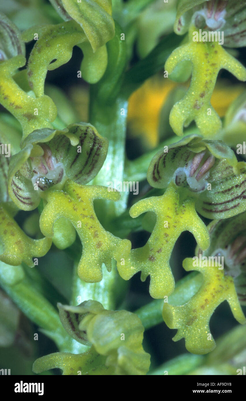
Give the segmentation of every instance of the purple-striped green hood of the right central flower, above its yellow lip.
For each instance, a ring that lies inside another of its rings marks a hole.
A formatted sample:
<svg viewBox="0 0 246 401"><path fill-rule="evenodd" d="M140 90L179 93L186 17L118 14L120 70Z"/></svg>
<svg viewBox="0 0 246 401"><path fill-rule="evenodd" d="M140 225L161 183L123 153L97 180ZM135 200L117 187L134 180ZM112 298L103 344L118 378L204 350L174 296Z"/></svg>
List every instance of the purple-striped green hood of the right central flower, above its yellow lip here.
<svg viewBox="0 0 246 401"><path fill-rule="evenodd" d="M197 212L209 219L232 217L246 207L246 164L221 140L193 134L164 147L150 162L147 179L155 188L174 182L183 194L193 194Z"/></svg>

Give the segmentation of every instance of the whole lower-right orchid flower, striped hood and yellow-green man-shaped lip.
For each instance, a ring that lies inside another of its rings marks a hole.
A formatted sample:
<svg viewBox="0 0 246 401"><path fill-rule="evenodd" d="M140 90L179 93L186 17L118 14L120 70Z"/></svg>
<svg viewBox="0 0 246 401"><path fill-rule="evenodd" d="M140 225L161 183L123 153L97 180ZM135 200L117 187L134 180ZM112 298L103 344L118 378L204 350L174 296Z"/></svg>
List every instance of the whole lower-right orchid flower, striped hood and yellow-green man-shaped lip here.
<svg viewBox="0 0 246 401"><path fill-rule="evenodd" d="M214 310L227 300L235 319L246 323L241 305L246 305L246 212L226 220L212 221L211 245L205 251L199 246L196 256L183 261L185 270L203 275L198 292L184 305L163 306L163 318L169 328L177 328L175 341L185 338L186 348L195 354L210 352L215 341L209 320Z"/></svg>

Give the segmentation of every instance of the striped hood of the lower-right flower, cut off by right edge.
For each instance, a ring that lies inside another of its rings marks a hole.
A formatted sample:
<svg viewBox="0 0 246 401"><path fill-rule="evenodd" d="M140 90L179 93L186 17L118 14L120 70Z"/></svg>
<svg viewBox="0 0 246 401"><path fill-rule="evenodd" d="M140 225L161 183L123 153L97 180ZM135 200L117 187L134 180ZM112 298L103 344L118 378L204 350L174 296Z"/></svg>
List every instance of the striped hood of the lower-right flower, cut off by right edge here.
<svg viewBox="0 0 246 401"><path fill-rule="evenodd" d="M207 226L210 246L202 251L198 246L195 254L223 256L224 274L234 279L238 300L246 305L246 212L230 219L214 220Z"/></svg>

